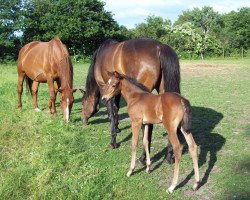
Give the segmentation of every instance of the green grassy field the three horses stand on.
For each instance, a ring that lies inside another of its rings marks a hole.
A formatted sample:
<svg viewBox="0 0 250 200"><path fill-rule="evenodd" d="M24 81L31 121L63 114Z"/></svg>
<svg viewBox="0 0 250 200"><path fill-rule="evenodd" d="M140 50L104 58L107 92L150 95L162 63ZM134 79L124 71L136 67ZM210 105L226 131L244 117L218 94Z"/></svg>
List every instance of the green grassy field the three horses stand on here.
<svg viewBox="0 0 250 200"><path fill-rule="evenodd" d="M74 64L74 85L83 87L89 64ZM47 114L48 87L39 87L34 112L24 89L17 110L16 66L0 64L0 199L249 199L250 59L181 62L182 94L193 107L193 134L199 146L201 187L192 191L192 161L184 149L178 188L171 184L173 165L164 160L167 137L154 128L152 172L137 164L130 178L131 128L122 104L117 140L102 106L89 125L80 120L81 93L75 93L71 122ZM137 157L142 151L140 142Z"/></svg>

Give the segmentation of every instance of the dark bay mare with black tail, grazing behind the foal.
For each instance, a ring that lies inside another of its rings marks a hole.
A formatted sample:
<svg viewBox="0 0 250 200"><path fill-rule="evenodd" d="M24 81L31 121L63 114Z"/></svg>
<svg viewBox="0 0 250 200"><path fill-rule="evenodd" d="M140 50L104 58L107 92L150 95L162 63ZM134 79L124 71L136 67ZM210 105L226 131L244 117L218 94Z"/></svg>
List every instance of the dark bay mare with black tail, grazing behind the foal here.
<svg viewBox="0 0 250 200"><path fill-rule="evenodd" d="M132 39L124 42L109 39L96 50L89 67L81 114L83 122L87 122L99 109L101 91L109 78L107 71L128 75L149 91L156 89L159 93L180 92L179 60L172 48L153 39ZM110 145L113 148L117 147L119 101L120 94L117 94L114 101L107 103L111 120ZM150 133L152 128L150 126Z"/></svg>

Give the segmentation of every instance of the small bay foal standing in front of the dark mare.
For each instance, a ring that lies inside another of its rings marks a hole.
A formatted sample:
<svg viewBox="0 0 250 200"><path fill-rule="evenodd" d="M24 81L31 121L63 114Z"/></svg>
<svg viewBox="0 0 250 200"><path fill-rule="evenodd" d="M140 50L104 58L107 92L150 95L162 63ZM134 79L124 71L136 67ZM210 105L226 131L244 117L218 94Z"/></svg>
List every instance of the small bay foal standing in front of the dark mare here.
<svg viewBox="0 0 250 200"><path fill-rule="evenodd" d="M129 177L135 168L136 149L142 124L146 125L143 146L146 152L146 171L149 172L151 161L148 148L148 124L163 123L168 132L168 138L173 146L175 155L174 177L172 185L167 191L169 193L173 192L178 182L182 154L182 145L177 137L178 127L187 141L193 160L195 173L193 189L196 190L199 185L199 168L197 145L191 133L191 105L189 101L174 92L154 95L145 92L134 79L120 75L117 72L109 72L108 74L110 78L102 90L102 100L109 101L116 94L121 93L127 102L127 111L132 124L132 158L127 176ZM143 86L143 88L145 87Z"/></svg>

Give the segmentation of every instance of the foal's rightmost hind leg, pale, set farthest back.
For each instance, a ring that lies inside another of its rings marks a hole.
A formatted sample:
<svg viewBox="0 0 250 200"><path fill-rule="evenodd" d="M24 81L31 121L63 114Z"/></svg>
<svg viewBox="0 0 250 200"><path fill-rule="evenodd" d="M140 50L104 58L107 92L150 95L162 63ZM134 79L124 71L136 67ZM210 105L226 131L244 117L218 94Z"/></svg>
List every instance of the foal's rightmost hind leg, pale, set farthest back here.
<svg viewBox="0 0 250 200"><path fill-rule="evenodd" d="M198 166L198 156L197 156L197 145L194 141L192 133L187 133L183 129L181 129L187 144L188 144L188 149L189 153L192 157L193 160L193 165L194 165L194 174L195 174L195 183L193 185L193 190L197 190L200 182L200 175L199 175L199 166Z"/></svg>

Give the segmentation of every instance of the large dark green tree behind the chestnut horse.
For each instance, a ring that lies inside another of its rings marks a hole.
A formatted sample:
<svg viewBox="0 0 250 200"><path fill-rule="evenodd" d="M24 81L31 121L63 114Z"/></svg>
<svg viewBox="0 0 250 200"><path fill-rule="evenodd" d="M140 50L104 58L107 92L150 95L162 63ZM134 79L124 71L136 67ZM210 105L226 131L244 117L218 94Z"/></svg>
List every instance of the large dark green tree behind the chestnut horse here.
<svg viewBox="0 0 250 200"><path fill-rule="evenodd" d="M99 0L29 0L24 14L25 42L50 40L56 35L71 53L91 55L119 26Z"/></svg>

